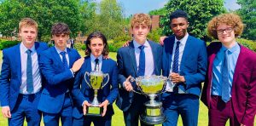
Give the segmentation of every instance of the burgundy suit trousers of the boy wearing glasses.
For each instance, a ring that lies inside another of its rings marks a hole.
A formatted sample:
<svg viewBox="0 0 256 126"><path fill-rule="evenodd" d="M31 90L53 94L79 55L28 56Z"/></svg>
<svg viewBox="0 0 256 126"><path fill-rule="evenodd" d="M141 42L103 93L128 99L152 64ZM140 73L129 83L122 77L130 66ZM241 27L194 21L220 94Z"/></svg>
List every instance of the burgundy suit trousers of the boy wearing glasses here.
<svg viewBox="0 0 256 126"><path fill-rule="evenodd" d="M228 119L230 119L230 126L240 126L232 100L225 103L221 96L212 95L211 106L208 112L209 126L225 126Z"/></svg>

